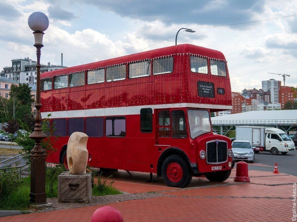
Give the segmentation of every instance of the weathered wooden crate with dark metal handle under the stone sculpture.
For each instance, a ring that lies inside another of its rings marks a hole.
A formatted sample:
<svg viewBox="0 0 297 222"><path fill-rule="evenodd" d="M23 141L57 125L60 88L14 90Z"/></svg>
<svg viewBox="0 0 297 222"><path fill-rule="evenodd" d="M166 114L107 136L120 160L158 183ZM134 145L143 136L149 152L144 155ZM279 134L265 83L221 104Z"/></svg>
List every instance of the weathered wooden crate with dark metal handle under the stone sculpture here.
<svg viewBox="0 0 297 222"><path fill-rule="evenodd" d="M92 173L75 175L63 172L58 176L58 202L91 202Z"/></svg>

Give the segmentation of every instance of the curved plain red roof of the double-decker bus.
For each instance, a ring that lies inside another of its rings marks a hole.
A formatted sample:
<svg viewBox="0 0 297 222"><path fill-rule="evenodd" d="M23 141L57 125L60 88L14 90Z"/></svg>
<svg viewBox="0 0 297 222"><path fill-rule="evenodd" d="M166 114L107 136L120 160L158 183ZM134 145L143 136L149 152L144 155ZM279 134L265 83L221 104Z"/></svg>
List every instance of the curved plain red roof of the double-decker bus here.
<svg viewBox="0 0 297 222"><path fill-rule="evenodd" d="M105 67L109 65L116 65L116 64L126 63L126 62L152 59L152 58L157 58L161 56L167 56L172 54L183 54L183 53L198 54L198 55L202 55L210 58L225 60L225 56L222 54L222 52L219 52L217 50L208 49L201 46L195 46L192 44L181 44L177 46L169 46L169 47L154 49L146 52L139 52L135 54L121 56L117 58L106 59L98 62L92 62L84 65L78 65L78 66L67 67L64 69L54 70L50 72L45 72L40 75L40 78L47 78L47 77L52 77L56 75L80 72L84 70L92 70L98 67Z"/></svg>

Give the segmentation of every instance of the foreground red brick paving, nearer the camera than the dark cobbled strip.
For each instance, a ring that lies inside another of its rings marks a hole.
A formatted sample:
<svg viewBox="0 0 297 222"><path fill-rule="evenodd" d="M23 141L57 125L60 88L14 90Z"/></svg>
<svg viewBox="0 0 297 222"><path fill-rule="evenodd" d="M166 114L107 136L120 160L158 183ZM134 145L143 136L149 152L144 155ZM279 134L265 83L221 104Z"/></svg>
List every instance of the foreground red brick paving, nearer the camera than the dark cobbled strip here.
<svg viewBox="0 0 297 222"><path fill-rule="evenodd" d="M291 200L156 197L109 204L117 208L124 221L290 221ZM34 213L0 218L6 222L82 222L90 221L92 213L101 206L81 207L47 213Z"/></svg>

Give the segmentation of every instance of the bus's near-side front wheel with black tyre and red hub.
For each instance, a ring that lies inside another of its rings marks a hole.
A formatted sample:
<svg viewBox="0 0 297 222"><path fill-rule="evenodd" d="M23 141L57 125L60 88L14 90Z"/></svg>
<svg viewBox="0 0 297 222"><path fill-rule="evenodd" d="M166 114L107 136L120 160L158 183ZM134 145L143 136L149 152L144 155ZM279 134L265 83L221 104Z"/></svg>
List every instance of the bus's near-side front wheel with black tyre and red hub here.
<svg viewBox="0 0 297 222"><path fill-rule="evenodd" d="M162 163L163 180L167 186L184 188L192 180L187 162L180 155L171 155Z"/></svg>

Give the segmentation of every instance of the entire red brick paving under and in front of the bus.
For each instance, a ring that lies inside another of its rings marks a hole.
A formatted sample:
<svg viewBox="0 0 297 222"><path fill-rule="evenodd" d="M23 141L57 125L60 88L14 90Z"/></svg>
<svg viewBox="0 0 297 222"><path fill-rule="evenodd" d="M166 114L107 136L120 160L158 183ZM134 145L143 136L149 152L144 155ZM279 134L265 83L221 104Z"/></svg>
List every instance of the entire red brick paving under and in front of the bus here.
<svg viewBox="0 0 297 222"><path fill-rule="evenodd" d="M117 172L113 177L116 186L121 189L150 190L156 186L162 191L161 197L143 200L129 200L108 204L116 207L124 221L291 221L293 183L297 177L284 173L274 174L250 170L251 183L233 181L235 170L223 183L210 183L205 178L193 178L193 184L185 189L172 189L160 185L141 182L141 173L132 173L135 178L126 178L124 172ZM149 174L143 174L147 177ZM159 179L159 178L157 178ZM127 182L128 181L128 182ZM143 180L142 180L143 181ZM200 185L195 186L193 185ZM127 185L129 184L129 185ZM145 186L144 186L145 185ZM163 187L163 188L162 188ZM56 210L45 213L33 213L0 218L7 222L82 222L90 221L94 211L103 205Z"/></svg>

